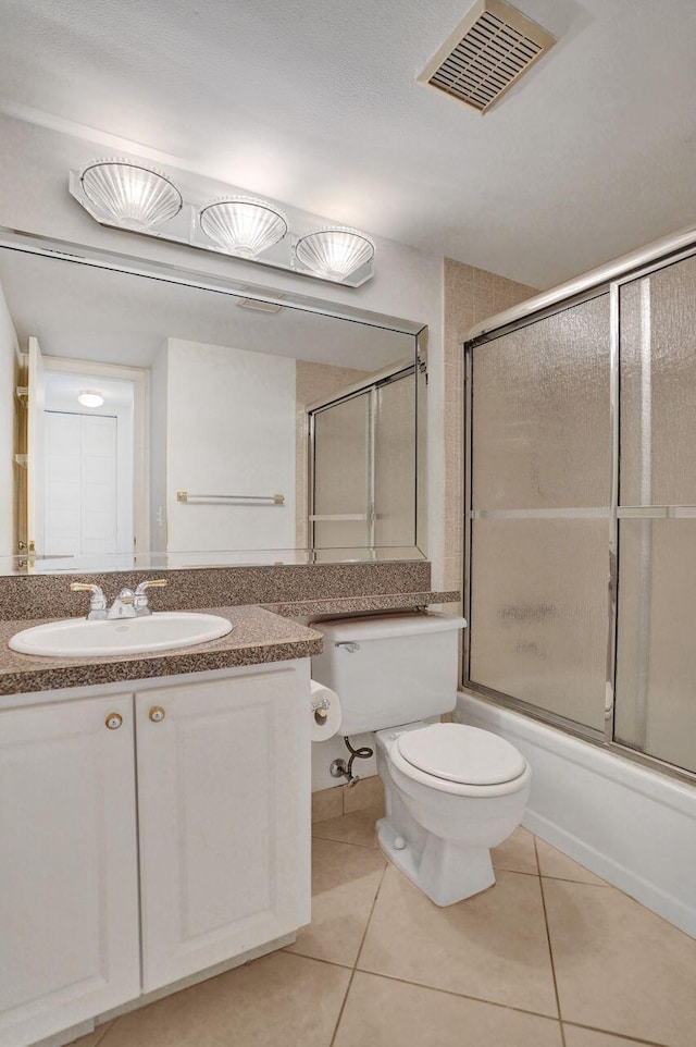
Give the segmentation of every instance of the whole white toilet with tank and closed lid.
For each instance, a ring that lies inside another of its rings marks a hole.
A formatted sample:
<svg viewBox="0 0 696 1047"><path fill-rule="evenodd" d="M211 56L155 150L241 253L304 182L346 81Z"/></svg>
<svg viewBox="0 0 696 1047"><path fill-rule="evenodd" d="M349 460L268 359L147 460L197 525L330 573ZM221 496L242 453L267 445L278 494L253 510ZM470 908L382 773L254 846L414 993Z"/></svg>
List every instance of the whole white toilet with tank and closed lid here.
<svg viewBox="0 0 696 1047"><path fill-rule="evenodd" d="M520 824L531 769L505 739L462 724L423 723L457 700L464 618L385 615L314 623L324 651L312 676L340 700L340 734L375 731L386 816L384 853L438 906L495 883L489 849Z"/></svg>

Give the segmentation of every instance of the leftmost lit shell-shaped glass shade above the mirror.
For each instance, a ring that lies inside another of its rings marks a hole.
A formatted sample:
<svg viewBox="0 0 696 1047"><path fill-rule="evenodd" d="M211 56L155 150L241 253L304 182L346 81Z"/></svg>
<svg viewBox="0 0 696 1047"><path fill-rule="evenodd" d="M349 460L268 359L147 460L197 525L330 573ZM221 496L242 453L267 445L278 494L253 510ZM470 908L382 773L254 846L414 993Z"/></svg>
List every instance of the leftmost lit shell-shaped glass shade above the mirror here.
<svg viewBox="0 0 696 1047"><path fill-rule="evenodd" d="M184 206L173 182L129 160L94 160L79 181L85 196L126 229L151 229L174 218Z"/></svg>

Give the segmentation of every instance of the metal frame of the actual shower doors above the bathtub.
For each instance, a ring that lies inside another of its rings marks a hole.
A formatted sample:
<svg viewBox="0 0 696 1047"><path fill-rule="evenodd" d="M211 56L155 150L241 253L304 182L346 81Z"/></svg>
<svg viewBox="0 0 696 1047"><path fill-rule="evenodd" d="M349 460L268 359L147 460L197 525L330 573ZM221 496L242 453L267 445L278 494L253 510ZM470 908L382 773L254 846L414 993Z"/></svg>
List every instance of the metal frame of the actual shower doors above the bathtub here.
<svg viewBox="0 0 696 1047"><path fill-rule="evenodd" d="M683 246L684 234L681 237L675 237L675 244L671 254L660 251L655 252L655 257L649 262L647 258L644 258L644 264L638 267L635 264L636 256L639 252L634 252L634 255L626 256L626 271L620 273L617 271L617 266L605 267L602 270L597 270L596 275L605 275L605 280L593 283L589 278L594 276L595 273L588 274L588 281L585 286L581 286L582 281L573 281L568 285L569 294L568 297L560 296L558 291L549 292L546 296L539 296L539 309L537 311L530 311L529 306L522 304L519 309L519 316L514 316L514 309L510 309L505 313L500 313L500 320L502 321L500 327L494 327L496 318L493 321L487 321L490 325L478 325L474 329L472 338L465 341L462 344L462 350L464 354L464 455L463 455L463 525L464 525L464 577L463 577L463 601L464 601L464 616L468 621L471 621L471 600L472 600L472 522L474 519L474 512L472 509L472 461L473 461L473 433L472 433L472 422L473 422L473 350L487 342L493 342L505 334L509 334L520 328L530 327L533 323L538 322L547 317L554 316L556 313L562 312L569 308L580 305L582 301L589 300L591 298L598 297L601 294L609 293L609 424L610 424L610 441L611 441L611 454L610 454L610 491L609 491L609 508L608 508L608 601L609 601L609 614L608 614L608 630L607 630L607 672L606 672L606 690L605 690L605 726L604 731L597 730L592 727L587 727L584 724L579 724L575 720L568 719L564 716L560 716L556 713L548 712L538 706L532 705L522 699L513 698L510 694L505 694L500 691L496 691L493 688L486 687L481 683L476 683L471 679L471 644L469 639L469 632L464 633L465 639L463 643L462 651L462 685L483 698L490 700L494 703L511 709L514 712L522 713L534 719L540 720L548 724L551 727L557 727L564 730L568 734L574 735L584 741L595 744L601 749L609 752L620 754L625 756L627 760L634 763L642 764L652 771L659 771L669 777L676 778L681 781L687 781L693 785L696 781L696 772L687 771L683 767L678 767L674 764L668 763L661 760L659 756L650 755L649 753L642 752L638 749L634 749L625 743L617 741L614 739L614 718L616 718L616 681L617 681L617 630L619 621L619 521L621 519L669 519L669 518L693 518L696 519L696 506L694 505L648 505L648 506L621 506L620 503L620 451L621 451L621 319L620 319L620 295L621 288L629 283L633 283L636 280L641 280L645 276L649 276L655 272L667 269L670 266L676 264L680 261L684 261L687 258L696 256L696 233L691 231L691 244L687 247ZM660 242L660 247L663 247L664 242ZM646 248L646 256L649 257L649 249ZM610 279L607 281L606 276L609 275ZM546 303L544 303L546 299ZM535 515L549 516L554 513L535 513ZM562 510L560 510L562 513ZM519 510L514 513L511 510L506 514L509 518L514 518L519 516L520 518L524 515L529 515L525 510ZM559 514L560 515L560 514ZM573 518L588 517L591 515L596 515L593 509L579 508L573 512Z"/></svg>

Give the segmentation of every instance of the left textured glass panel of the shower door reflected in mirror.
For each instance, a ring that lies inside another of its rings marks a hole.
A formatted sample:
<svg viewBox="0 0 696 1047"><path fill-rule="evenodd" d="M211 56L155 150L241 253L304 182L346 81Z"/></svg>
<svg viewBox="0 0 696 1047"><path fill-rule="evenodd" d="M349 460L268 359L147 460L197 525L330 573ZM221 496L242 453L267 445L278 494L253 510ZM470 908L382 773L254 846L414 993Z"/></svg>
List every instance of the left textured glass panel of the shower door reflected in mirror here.
<svg viewBox="0 0 696 1047"><path fill-rule="evenodd" d="M314 514L362 516L314 524L314 545L369 545L370 394L314 416Z"/></svg>

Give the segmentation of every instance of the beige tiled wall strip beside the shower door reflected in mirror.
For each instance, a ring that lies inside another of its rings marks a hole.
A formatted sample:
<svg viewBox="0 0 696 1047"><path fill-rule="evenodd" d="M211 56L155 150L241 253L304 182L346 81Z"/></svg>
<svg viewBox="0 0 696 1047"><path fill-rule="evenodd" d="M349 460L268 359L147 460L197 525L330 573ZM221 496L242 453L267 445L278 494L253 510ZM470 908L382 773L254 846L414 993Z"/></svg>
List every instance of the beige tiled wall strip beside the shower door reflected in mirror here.
<svg viewBox="0 0 696 1047"><path fill-rule="evenodd" d="M298 360L296 365L296 399L297 423L296 434L296 470L295 470L295 537L298 549L309 545L308 505L308 404L318 399L328 398L355 382L369 375L369 371L358 371L350 367L334 367L331 364L314 364L311 360Z"/></svg>

